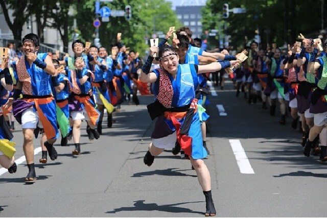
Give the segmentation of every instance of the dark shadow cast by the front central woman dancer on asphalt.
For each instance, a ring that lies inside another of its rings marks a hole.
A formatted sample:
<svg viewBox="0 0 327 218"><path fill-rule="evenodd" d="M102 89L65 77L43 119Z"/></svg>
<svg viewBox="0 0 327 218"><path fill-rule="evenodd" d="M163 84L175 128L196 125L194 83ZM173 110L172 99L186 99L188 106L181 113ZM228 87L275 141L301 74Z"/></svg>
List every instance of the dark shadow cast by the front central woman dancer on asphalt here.
<svg viewBox="0 0 327 218"><path fill-rule="evenodd" d="M135 202L134 207L116 208L112 211L107 211L106 213L116 213L120 211L164 211L164 212L171 212L171 213L198 213L202 215L204 214L203 212L193 211L189 208L176 207L177 205L181 205L181 204L199 203L201 201L184 202L184 203L167 204L167 205L157 205L155 203L145 204L144 203L145 200L137 200L134 202Z"/></svg>

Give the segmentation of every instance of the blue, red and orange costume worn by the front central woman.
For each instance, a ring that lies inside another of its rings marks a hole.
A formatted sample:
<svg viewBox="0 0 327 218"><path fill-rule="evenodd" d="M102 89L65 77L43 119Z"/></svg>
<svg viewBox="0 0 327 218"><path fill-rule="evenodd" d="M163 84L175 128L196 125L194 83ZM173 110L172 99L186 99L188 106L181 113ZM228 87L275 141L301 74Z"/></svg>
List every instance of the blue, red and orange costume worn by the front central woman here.
<svg viewBox="0 0 327 218"><path fill-rule="evenodd" d="M161 68L153 72L158 78L154 84L157 99L155 103L148 105L148 110L152 119L158 117L151 136L154 146L160 148L160 139L177 134L177 140L185 154L193 159L206 157L195 99L195 87L198 86L195 65L179 64L175 80ZM172 138L166 148L173 148L175 141Z"/></svg>

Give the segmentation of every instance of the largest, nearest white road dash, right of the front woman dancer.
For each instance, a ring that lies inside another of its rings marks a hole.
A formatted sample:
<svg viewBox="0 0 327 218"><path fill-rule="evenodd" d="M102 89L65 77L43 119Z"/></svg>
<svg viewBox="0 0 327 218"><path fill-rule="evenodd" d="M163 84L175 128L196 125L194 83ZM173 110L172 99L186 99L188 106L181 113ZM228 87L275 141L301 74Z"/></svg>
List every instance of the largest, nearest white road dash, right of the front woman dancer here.
<svg viewBox="0 0 327 218"><path fill-rule="evenodd" d="M229 139L230 147L236 158L237 165L239 165L242 174L254 174L249 159L239 139Z"/></svg>

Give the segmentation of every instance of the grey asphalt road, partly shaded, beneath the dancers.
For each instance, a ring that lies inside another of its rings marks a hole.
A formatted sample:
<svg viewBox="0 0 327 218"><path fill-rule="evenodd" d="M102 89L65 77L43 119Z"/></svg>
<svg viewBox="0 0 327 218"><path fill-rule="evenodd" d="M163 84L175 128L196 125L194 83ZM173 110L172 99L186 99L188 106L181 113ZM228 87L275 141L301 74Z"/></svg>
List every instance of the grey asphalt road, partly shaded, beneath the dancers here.
<svg viewBox="0 0 327 218"><path fill-rule="evenodd" d="M301 134L278 124L261 103L249 105L235 96L231 83L215 87L207 111L205 160L212 178L217 216L325 217L326 165L305 157ZM165 151L151 167L143 163L154 122L141 105L122 105L116 123L100 139L89 141L83 122L82 155L71 146L55 146L56 161L41 164L39 139L34 140L37 181L26 184L26 162L16 174L0 169L1 217L202 217L205 201L189 160ZM219 106L220 115L217 105ZM103 123L104 127L106 122ZM16 124L16 159L24 156ZM24 158L24 157L23 157ZM20 159L21 160L21 159ZM2 173L1 173L2 172Z"/></svg>

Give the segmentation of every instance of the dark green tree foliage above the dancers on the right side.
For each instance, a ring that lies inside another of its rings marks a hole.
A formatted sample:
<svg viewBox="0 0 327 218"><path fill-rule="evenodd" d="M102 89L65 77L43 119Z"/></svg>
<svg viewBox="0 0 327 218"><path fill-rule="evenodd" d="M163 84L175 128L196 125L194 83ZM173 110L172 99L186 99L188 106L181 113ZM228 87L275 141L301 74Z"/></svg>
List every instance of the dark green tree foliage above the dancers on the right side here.
<svg viewBox="0 0 327 218"><path fill-rule="evenodd" d="M222 19L223 4L228 3L229 9L246 8L244 14L229 12L227 19ZM323 10L327 9L327 3ZM314 16L313 16L314 14ZM327 13L323 13L327 18ZM222 22L226 22L224 30ZM304 0L208 0L202 10L203 30L219 29L231 36L231 44L245 43L245 36L252 40L255 30L259 30L261 44L294 43L299 33L307 38L317 38L321 29L321 1L310 2ZM212 39L211 39L212 40ZM216 37L214 40L218 40Z"/></svg>

